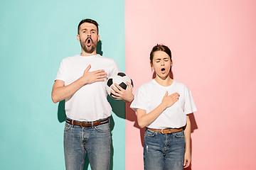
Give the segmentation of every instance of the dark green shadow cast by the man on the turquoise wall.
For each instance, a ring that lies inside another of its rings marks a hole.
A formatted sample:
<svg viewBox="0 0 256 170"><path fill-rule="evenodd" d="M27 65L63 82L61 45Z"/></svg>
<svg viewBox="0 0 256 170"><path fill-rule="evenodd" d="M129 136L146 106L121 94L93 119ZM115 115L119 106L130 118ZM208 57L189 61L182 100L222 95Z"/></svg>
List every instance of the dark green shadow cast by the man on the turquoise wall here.
<svg viewBox="0 0 256 170"><path fill-rule="evenodd" d="M97 54L103 55L102 52L102 42L99 41L97 43ZM112 111L119 117L125 119L125 103L124 101L117 101L111 98L110 96L107 96L107 101L109 101L110 105L112 106ZM60 123L63 123L66 119L65 115L65 100L60 101L58 104L58 121ZM111 130L111 136L112 136L112 130L114 129L114 119L112 116L110 116L110 130ZM110 155L110 169L113 169L113 156L114 156L114 148L111 145L111 155ZM87 170L89 166L89 159L85 157L85 165L84 170Z"/></svg>

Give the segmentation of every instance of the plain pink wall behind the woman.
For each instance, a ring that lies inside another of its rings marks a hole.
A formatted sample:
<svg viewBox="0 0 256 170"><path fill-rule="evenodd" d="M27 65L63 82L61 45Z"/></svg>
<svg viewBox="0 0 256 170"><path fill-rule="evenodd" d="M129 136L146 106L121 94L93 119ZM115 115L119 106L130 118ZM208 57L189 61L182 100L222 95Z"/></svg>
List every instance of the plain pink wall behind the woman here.
<svg viewBox="0 0 256 170"><path fill-rule="evenodd" d="M256 169L256 1L125 1L126 72L151 80L149 52L172 50L174 79L191 89L194 170ZM143 169L144 130L127 107L126 169Z"/></svg>

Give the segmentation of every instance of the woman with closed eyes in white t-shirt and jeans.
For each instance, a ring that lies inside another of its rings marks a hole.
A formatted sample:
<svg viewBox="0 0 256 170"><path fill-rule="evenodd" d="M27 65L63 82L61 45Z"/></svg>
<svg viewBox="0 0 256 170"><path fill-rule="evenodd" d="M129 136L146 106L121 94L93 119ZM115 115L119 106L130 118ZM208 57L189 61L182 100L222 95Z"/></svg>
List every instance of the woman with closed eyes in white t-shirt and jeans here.
<svg viewBox="0 0 256 170"><path fill-rule="evenodd" d="M171 50L156 45L150 53L156 77L137 89L131 104L144 135L144 169L183 169L191 163L191 123L196 111L191 91L169 77ZM171 95L169 95L171 94Z"/></svg>

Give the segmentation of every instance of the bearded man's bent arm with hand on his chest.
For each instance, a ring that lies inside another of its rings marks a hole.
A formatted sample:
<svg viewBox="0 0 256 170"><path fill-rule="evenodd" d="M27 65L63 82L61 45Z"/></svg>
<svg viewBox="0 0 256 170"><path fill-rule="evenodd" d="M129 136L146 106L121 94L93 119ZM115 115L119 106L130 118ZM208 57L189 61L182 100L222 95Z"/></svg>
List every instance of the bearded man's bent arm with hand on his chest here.
<svg viewBox="0 0 256 170"><path fill-rule="evenodd" d="M82 86L86 84L92 84L97 81L104 81L104 78L107 77L107 73L103 69L96 70L94 72L89 72L91 65L85 69L82 77L74 81L72 84L65 86L65 82L61 80L56 80L53 84L52 91L52 100L54 103L63 101L65 98L68 98L75 94Z"/></svg>

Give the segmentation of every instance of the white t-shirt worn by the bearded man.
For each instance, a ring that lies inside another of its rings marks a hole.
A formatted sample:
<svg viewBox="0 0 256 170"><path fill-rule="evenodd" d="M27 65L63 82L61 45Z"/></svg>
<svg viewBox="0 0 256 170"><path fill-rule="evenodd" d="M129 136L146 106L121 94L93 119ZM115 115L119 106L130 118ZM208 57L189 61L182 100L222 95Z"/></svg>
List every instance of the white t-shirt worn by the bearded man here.
<svg viewBox="0 0 256 170"><path fill-rule="evenodd" d="M89 72L104 69L107 77L119 72L119 68L113 59L101 55L66 57L60 63L55 80L65 82L65 86L72 84L82 77L88 65ZM94 121L107 118L112 113L110 103L107 101L105 81L95 82L82 86L78 91L65 99L65 113L68 118L79 121Z"/></svg>

